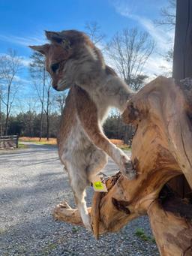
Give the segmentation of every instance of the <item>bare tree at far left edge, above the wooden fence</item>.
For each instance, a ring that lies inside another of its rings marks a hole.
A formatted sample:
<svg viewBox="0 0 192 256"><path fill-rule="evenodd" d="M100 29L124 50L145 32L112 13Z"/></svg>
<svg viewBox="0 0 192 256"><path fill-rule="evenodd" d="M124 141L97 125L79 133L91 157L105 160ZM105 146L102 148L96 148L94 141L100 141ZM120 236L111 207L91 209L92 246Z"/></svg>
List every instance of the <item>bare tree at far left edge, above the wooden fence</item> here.
<svg viewBox="0 0 192 256"><path fill-rule="evenodd" d="M17 74L21 68L21 58L15 50L8 50L6 55L0 57L1 103L5 105L6 119L5 131L7 135L10 110L18 92Z"/></svg>

